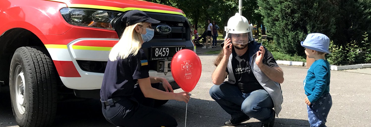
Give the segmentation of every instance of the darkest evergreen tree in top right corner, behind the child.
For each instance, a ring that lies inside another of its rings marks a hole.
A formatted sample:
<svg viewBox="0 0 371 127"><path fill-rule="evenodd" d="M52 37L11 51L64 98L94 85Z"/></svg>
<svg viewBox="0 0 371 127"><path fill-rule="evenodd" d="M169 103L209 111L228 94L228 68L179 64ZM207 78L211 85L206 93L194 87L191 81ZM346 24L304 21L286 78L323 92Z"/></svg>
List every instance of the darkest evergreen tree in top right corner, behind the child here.
<svg viewBox="0 0 371 127"><path fill-rule="evenodd" d="M338 10L334 43L345 46L351 41L359 45L365 32L371 33L370 0L334 0Z"/></svg>

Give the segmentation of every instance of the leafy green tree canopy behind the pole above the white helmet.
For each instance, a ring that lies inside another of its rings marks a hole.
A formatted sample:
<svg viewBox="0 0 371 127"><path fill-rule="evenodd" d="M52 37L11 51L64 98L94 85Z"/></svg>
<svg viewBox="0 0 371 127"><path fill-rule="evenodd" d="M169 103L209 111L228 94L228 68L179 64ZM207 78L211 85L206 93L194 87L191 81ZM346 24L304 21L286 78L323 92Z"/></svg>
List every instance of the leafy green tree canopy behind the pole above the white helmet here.
<svg viewBox="0 0 371 127"><path fill-rule="evenodd" d="M154 3L165 4L184 11L191 24L203 29L207 26L207 19L216 21L221 29L227 21L238 12L238 0L147 0ZM261 15L256 10L256 0L243 0L242 14L253 24L261 24Z"/></svg>

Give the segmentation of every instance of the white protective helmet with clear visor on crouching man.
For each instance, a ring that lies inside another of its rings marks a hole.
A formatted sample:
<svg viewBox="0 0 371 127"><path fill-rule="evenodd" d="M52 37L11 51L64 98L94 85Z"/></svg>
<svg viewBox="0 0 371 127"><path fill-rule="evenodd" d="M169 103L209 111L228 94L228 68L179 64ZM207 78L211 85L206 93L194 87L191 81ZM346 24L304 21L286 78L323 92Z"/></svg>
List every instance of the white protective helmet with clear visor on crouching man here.
<svg viewBox="0 0 371 127"><path fill-rule="evenodd" d="M252 36L252 28L252 24L249 24L249 21L245 17L241 16L239 13L236 13L234 16L229 18L227 26L224 27L224 30L227 33L226 38L231 38L232 35L248 36L249 41L231 41L232 43L237 44L247 44L254 39Z"/></svg>

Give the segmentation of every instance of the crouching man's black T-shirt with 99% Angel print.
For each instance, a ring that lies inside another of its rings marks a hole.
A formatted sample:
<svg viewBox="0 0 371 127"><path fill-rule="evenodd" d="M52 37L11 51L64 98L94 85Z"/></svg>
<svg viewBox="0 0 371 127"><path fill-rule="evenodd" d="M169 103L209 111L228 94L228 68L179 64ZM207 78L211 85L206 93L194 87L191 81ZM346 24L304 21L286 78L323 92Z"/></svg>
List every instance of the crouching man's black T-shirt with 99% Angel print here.
<svg viewBox="0 0 371 127"><path fill-rule="evenodd" d="M252 47L249 43L249 47L250 46ZM273 58L272 53L270 53L266 48L264 49L265 54L263 64L266 64L269 67L279 67L276 60ZM236 78L235 85L237 85L243 93L251 93L252 91L263 89L251 70L250 58L254 54L246 51L242 56L238 56L236 51L234 51L234 48L232 48L232 70L234 77Z"/></svg>

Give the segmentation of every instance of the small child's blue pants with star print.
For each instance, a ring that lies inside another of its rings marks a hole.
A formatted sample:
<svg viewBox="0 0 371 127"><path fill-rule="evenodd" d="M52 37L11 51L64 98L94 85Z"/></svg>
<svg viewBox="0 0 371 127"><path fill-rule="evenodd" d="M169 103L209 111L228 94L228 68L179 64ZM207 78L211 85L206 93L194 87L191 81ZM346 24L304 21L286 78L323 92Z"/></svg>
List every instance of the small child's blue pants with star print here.
<svg viewBox="0 0 371 127"><path fill-rule="evenodd" d="M326 127L326 118L332 106L330 93L323 94L316 102L308 108L308 121L311 127Z"/></svg>

